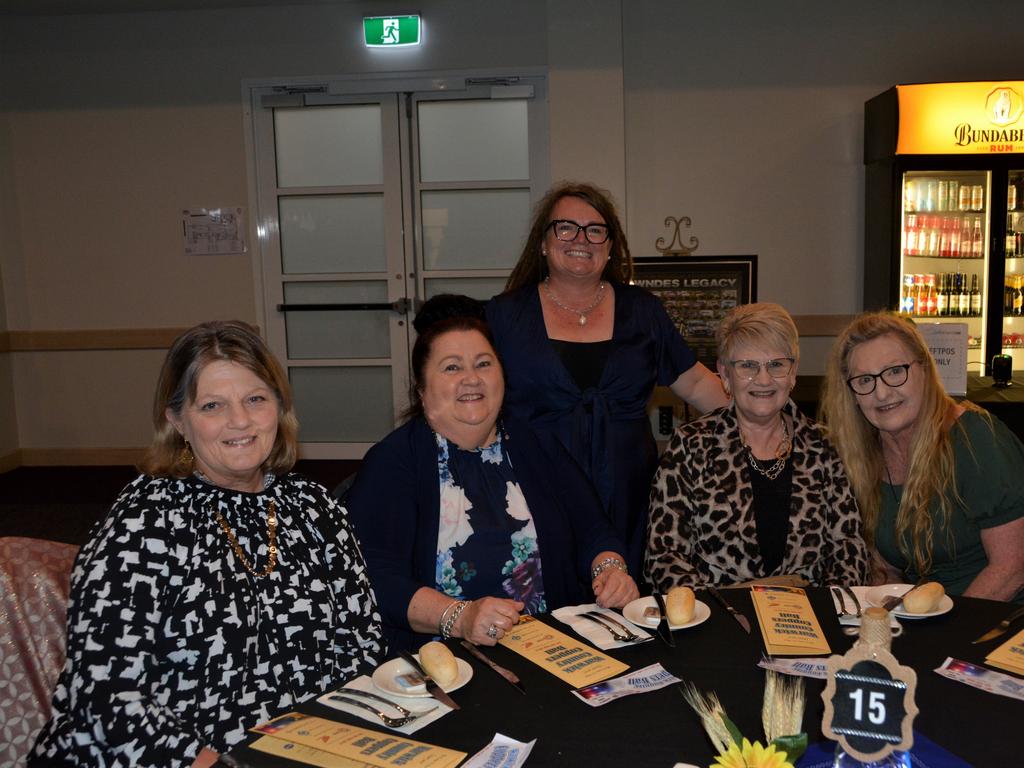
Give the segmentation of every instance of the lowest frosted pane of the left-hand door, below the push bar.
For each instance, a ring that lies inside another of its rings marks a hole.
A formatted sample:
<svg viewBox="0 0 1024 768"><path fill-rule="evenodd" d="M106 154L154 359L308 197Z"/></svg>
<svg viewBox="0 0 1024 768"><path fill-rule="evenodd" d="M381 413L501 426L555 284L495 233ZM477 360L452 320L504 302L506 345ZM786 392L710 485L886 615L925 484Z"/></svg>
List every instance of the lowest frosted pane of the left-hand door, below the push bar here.
<svg viewBox="0 0 1024 768"><path fill-rule="evenodd" d="M377 442L394 429L389 368L293 368L302 442Z"/></svg>

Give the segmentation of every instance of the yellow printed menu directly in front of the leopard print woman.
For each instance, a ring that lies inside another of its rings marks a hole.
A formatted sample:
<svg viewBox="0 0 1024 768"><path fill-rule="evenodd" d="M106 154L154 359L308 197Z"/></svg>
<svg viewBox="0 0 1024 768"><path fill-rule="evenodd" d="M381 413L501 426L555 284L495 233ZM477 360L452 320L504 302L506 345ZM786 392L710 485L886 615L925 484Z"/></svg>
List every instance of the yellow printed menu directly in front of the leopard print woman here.
<svg viewBox="0 0 1024 768"><path fill-rule="evenodd" d="M771 656L831 653L807 593L798 587L751 588L765 650Z"/></svg>

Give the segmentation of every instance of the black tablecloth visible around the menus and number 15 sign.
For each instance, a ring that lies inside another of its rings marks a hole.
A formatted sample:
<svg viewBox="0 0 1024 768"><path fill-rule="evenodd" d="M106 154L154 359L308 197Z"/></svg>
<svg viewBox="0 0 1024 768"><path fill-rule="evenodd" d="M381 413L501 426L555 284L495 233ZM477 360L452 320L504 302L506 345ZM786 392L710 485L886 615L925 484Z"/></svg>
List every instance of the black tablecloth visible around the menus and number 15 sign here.
<svg viewBox="0 0 1024 768"><path fill-rule="evenodd" d="M835 618L828 592L811 589L808 594L833 651L845 653L854 638L845 635ZM691 681L701 690L717 692L740 731L749 738L763 740L764 672L757 667L763 644L754 606L746 591L730 590L726 596L751 620L751 635L698 592L698 599L711 607L712 615L697 627L676 631L675 648L654 639L608 653L633 670L660 662L677 677ZM952 610L944 615L903 622L903 634L893 640L894 655L918 673L916 702L921 714L914 720L914 729L979 768L1024 765L1020 749L1013 743L1024 724L1024 702L948 680L933 670L946 656L982 663L1000 641L972 645L971 640L994 626L1013 607L990 600L954 598ZM551 616L542 618L571 633ZM1005 635L1002 640L1008 637L1009 634ZM519 675L526 695L470 656L458 643L451 647L473 666L472 680L453 694L462 709L422 728L412 738L470 755L488 743L495 732L521 741L536 738L537 744L526 763L529 768L575 765L669 768L676 762L706 766L714 758L696 715L675 685L591 708L553 675L506 648L499 646L485 651L498 664ZM821 738L824 681L805 679L805 682L804 729L813 743ZM314 701L296 709L375 728L368 721L350 718ZM296 765L246 746L231 754L259 768Z"/></svg>

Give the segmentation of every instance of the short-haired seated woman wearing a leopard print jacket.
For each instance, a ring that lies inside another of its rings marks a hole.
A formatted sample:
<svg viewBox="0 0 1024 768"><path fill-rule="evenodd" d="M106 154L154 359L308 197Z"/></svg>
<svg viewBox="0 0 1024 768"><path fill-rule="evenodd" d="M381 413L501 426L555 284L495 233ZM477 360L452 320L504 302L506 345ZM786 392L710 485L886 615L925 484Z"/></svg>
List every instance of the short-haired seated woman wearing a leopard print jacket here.
<svg viewBox="0 0 1024 768"><path fill-rule="evenodd" d="M645 572L655 590L797 574L861 584L860 516L843 464L790 399L797 329L777 304L717 333L732 403L680 427L654 477Z"/></svg>

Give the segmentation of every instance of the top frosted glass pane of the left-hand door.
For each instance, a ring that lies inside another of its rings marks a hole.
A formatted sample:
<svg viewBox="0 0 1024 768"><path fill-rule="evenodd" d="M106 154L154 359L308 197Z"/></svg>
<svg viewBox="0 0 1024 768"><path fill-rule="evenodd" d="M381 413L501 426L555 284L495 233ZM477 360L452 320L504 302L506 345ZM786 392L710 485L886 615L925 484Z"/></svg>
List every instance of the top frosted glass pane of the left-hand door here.
<svg viewBox="0 0 1024 768"><path fill-rule="evenodd" d="M384 181L379 104L276 109L279 186L343 186Z"/></svg>

